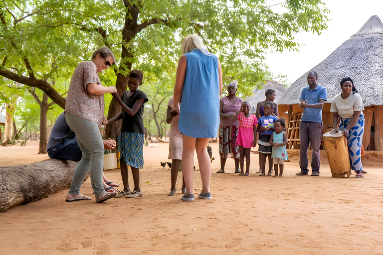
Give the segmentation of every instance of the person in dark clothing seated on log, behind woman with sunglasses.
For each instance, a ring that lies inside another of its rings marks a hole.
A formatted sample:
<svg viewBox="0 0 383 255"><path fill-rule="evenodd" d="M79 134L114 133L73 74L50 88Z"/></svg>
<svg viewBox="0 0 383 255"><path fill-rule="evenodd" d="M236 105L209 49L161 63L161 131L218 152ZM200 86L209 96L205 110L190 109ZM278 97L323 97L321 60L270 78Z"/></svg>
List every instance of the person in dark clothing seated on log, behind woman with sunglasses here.
<svg viewBox="0 0 383 255"><path fill-rule="evenodd" d="M105 149L114 149L116 147L116 141L110 138L102 141ZM46 150L48 152L48 156L55 159L79 161L82 157L81 149L77 143L76 134L66 123L64 112L58 116L53 125ZM112 187L118 187L118 184L108 180L104 173L103 179L104 189L106 191L112 191Z"/></svg>

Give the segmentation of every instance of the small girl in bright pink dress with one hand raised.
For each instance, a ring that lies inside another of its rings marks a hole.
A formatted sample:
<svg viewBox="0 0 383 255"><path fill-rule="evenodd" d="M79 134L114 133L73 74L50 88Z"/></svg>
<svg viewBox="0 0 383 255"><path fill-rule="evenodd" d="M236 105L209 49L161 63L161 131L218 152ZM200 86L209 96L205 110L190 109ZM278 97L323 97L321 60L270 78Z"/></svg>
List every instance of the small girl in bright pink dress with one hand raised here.
<svg viewBox="0 0 383 255"><path fill-rule="evenodd" d="M242 113L243 111L243 113ZM239 147L239 165L241 173L239 175L249 176L250 168L250 148L256 145L257 134L257 117L250 114L250 104L245 101L241 105L241 109L233 117L232 121L239 120L237 144ZM246 172L243 172L244 157L246 157Z"/></svg>

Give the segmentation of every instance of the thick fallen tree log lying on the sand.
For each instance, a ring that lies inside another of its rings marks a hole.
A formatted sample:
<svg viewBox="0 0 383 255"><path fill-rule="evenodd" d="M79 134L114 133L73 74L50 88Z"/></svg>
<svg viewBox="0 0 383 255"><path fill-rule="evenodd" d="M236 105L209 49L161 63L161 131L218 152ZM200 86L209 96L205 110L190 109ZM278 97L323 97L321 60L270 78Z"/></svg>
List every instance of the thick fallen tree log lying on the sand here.
<svg viewBox="0 0 383 255"><path fill-rule="evenodd" d="M46 159L33 164L0 167L0 212L69 188L77 163Z"/></svg>

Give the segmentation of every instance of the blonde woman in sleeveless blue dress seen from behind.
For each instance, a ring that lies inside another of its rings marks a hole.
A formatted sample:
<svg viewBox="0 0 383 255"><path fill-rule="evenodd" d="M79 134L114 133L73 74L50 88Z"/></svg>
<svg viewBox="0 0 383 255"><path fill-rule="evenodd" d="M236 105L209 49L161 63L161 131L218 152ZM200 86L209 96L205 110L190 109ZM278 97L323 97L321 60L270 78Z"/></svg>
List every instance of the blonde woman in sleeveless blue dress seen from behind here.
<svg viewBox="0 0 383 255"><path fill-rule="evenodd" d="M219 128L219 97L222 94L221 64L209 53L202 40L188 35L182 42L174 88L173 111L180 114L179 129L183 138L182 169L186 184L184 201L194 201L193 154L198 157L202 180L200 199L211 199L210 158L206 147ZM182 100L181 100L182 98ZM178 104L181 101L181 111Z"/></svg>

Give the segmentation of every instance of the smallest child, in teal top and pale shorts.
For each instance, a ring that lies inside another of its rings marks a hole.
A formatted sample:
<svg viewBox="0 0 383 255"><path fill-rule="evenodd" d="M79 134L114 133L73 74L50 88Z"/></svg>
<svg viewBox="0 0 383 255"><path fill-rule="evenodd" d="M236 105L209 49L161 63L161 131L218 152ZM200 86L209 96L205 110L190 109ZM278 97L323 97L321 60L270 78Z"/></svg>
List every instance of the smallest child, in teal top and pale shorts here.
<svg viewBox="0 0 383 255"><path fill-rule="evenodd" d="M278 119L274 122L275 131L271 134L269 143L273 146L271 157L273 159L275 176L278 176L278 164L279 164L279 177L283 176L283 165L285 160L288 160L286 144L287 135L283 130L286 124L284 119Z"/></svg>

